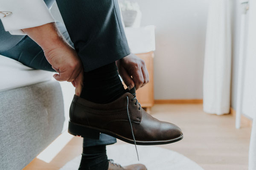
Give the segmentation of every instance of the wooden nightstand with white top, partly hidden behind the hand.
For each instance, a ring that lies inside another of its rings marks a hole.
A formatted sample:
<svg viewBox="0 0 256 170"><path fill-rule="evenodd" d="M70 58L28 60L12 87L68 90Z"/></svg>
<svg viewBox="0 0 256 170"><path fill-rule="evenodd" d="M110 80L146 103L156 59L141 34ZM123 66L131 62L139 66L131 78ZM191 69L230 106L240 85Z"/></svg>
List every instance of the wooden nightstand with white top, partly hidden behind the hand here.
<svg viewBox="0 0 256 170"><path fill-rule="evenodd" d="M155 50L155 26L126 27L125 34L130 51L143 59L149 73L149 82L137 91L137 99L147 112L154 105L153 57Z"/></svg>

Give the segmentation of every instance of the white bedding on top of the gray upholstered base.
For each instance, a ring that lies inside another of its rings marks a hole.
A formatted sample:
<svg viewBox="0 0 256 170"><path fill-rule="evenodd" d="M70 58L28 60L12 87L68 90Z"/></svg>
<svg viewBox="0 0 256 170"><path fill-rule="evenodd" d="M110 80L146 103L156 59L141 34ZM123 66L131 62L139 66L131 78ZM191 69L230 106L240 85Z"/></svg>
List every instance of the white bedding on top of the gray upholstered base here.
<svg viewBox="0 0 256 170"><path fill-rule="evenodd" d="M32 85L52 79L52 72L34 70L0 55L0 91Z"/></svg>

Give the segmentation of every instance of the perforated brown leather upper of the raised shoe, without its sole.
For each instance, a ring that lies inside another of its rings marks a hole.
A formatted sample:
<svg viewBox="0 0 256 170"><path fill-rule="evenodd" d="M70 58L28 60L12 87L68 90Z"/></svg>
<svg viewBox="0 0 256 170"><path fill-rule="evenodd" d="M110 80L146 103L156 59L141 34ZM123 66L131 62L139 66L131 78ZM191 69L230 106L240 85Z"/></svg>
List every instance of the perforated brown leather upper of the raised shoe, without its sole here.
<svg viewBox="0 0 256 170"><path fill-rule="evenodd" d="M136 142L164 142L182 137L181 129L169 122L162 122L146 113L131 93L123 94L119 99L108 104L97 104L74 96L70 106L70 121L98 129L108 130L122 138L133 141L130 122L131 117ZM72 109L71 109L72 108Z"/></svg>

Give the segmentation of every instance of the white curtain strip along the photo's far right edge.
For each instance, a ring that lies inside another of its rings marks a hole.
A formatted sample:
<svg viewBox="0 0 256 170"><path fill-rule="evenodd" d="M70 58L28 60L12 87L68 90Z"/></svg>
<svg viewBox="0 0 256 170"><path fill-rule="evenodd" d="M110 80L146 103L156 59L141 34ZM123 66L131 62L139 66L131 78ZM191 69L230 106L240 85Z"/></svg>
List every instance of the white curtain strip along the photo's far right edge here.
<svg viewBox="0 0 256 170"><path fill-rule="evenodd" d="M249 170L256 170L256 0L250 0L249 5L242 110L245 115L253 118L249 149Z"/></svg>

